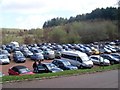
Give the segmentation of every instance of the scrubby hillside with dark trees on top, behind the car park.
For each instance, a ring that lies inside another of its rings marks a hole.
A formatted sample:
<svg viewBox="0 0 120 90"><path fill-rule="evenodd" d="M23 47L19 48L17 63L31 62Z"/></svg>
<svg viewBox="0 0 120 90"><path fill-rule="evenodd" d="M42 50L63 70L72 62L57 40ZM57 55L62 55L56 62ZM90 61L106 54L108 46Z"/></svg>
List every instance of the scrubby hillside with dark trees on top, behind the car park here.
<svg viewBox="0 0 120 90"><path fill-rule="evenodd" d="M53 18L44 23L43 29L2 28L2 43L91 43L120 39L118 10L113 7L97 8L69 19Z"/></svg>

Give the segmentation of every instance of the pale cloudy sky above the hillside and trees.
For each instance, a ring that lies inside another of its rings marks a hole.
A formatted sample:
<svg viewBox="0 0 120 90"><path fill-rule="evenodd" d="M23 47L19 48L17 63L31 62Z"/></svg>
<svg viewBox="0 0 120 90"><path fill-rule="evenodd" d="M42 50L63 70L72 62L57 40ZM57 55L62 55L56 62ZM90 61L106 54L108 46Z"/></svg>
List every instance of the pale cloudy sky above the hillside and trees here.
<svg viewBox="0 0 120 90"><path fill-rule="evenodd" d="M42 28L45 21L117 7L118 0L0 0L0 28Z"/></svg>

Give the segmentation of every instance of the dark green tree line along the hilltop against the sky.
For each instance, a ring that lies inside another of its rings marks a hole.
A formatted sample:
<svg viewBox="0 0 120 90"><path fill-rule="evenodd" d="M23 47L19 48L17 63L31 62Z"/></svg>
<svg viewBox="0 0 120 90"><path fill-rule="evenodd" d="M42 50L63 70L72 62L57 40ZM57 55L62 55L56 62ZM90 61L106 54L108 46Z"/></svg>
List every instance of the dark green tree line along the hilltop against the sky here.
<svg viewBox="0 0 120 90"><path fill-rule="evenodd" d="M103 19L103 20L118 20L118 8L115 7L107 7L107 8L96 8L91 13L86 13L82 15L76 15L75 17L71 16L69 19L57 17L51 20L46 21L43 24L43 28L53 27L64 25L72 22L80 22L86 20L95 20L95 19Z"/></svg>

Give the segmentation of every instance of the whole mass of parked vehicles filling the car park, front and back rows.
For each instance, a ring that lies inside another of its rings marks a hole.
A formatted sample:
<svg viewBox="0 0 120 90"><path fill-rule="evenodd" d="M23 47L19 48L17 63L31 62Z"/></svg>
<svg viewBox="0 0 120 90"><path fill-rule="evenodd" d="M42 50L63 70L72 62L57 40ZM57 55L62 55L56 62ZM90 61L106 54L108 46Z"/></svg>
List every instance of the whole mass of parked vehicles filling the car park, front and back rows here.
<svg viewBox="0 0 120 90"><path fill-rule="evenodd" d="M19 45L17 42L11 42L10 44L1 46L0 64L8 64L12 59L15 62L22 63L26 61L26 58L35 61L52 59L53 62L51 63L41 63L38 65L37 71L34 70L32 73L25 66L11 67L8 73L9 75L18 75L19 73L27 74L27 72L30 72L28 74L57 72L80 68L92 68L94 64L113 65L120 62L119 52L119 44L116 45L115 42L114 44L62 45L56 43Z"/></svg>

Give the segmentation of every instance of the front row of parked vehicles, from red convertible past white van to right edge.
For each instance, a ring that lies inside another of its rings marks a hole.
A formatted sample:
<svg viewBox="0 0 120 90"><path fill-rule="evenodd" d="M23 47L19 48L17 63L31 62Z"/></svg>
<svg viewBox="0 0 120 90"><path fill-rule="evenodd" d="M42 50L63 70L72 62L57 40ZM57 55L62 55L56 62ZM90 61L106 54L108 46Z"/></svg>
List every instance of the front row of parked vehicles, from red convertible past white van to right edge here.
<svg viewBox="0 0 120 90"><path fill-rule="evenodd" d="M109 55L109 54L106 54ZM113 54L114 55L114 54ZM115 54L116 55L116 54ZM23 74L34 74L34 73L48 73L48 72L60 72L63 70L76 70L81 68L92 68L94 64L96 65L113 65L120 63L120 54L119 57L115 60L115 57L110 55L110 57L104 57L103 55L91 55L88 57L85 53L78 51L64 51L62 52L61 59L54 59L51 63L40 63L37 64L36 69L33 71L28 70L27 67L17 68L19 66L14 66L9 69L9 75L23 75ZM22 66L20 66L22 67ZM19 70L20 69L20 70Z"/></svg>

